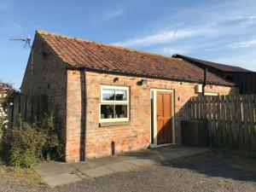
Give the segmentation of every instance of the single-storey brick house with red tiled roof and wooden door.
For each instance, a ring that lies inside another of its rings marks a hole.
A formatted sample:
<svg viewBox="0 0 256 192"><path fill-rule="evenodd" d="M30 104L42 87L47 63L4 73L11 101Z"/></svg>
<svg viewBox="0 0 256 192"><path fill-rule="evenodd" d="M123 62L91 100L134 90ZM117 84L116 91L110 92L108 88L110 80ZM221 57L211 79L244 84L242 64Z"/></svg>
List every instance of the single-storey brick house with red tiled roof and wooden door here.
<svg viewBox="0 0 256 192"><path fill-rule="evenodd" d="M49 96L70 162L110 155L112 143L116 153L180 145L183 106L203 83L183 59L37 31L20 90ZM205 91L238 89L208 73Z"/></svg>

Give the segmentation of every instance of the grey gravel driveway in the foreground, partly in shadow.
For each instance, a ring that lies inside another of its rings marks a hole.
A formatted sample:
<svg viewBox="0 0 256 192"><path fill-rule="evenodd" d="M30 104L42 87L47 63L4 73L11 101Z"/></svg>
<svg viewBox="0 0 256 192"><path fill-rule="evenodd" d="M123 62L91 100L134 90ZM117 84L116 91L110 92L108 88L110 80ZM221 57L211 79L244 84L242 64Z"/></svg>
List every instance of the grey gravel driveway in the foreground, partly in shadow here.
<svg viewBox="0 0 256 192"><path fill-rule="evenodd" d="M211 152L166 162L139 172L123 172L55 189L36 180L0 173L0 191L256 191L256 158Z"/></svg>

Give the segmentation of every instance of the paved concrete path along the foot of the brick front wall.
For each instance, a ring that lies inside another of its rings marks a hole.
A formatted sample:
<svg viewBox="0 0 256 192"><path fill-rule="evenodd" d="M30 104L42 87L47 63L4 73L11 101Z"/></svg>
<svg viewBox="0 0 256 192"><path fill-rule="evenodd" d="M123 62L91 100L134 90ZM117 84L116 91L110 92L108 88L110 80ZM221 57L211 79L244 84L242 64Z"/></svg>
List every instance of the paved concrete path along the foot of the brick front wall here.
<svg viewBox="0 0 256 192"><path fill-rule="evenodd" d="M180 157L201 154L210 148L151 148L142 151L125 153L119 156L104 157L77 163L50 161L35 168L44 178L49 187L68 184L88 179L102 177L114 172L137 171L143 167L160 165Z"/></svg>

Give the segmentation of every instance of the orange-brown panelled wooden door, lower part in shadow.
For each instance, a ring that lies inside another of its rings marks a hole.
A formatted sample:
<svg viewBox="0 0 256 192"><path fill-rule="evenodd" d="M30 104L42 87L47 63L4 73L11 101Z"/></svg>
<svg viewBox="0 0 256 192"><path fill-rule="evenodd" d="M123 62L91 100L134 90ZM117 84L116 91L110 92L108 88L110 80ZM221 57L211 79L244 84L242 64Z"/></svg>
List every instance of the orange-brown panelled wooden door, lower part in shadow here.
<svg viewBox="0 0 256 192"><path fill-rule="evenodd" d="M157 92L157 144L172 143L172 92Z"/></svg>

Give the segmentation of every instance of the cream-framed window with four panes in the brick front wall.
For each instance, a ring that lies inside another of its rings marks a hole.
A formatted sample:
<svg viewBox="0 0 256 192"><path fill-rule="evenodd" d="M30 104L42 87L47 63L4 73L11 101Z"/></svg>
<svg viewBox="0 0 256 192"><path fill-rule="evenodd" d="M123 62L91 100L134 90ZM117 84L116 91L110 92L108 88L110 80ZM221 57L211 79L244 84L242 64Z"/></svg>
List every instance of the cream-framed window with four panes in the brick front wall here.
<svg viewBox="0 0 256 192"><path fill-rule="evenodd" d="M129 87L101 85L100 123L129 121Z"/></svg>

